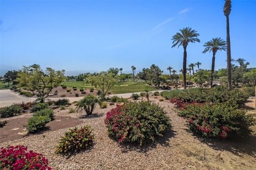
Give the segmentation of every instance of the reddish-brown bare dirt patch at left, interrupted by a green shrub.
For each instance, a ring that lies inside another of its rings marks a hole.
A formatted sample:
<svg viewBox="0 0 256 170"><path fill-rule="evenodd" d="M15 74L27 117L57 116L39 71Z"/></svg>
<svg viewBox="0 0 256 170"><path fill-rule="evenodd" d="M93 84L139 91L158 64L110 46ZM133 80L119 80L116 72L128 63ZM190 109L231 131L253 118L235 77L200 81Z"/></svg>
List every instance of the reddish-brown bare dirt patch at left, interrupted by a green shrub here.
<svg viewBox="0 0 256 170"><path fill-rule="evenodd" d="M0 143L34 135L28 134L26 128L24 127L27 124L28 119L29 117L20 117L9 120L3 128L0 128ZM81 122L82 121L78 120L77 118L55 116L55 119L47 123L45 129L41 133L73 127L80 124Z"/></svg>

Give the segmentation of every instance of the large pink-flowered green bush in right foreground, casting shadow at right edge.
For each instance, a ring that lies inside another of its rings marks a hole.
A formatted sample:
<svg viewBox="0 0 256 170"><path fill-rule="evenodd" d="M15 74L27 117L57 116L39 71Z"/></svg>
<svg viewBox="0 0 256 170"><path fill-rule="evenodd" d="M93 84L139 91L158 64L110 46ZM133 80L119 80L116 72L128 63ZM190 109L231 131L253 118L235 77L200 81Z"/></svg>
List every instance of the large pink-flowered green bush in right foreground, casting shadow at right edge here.
<svg viewBox="0 0 256 170"><path fill-rule="evenodd" d="M253 118L225 103L189 104L180 109L190 131L205 137L245 137L251 133Z"/></svg>

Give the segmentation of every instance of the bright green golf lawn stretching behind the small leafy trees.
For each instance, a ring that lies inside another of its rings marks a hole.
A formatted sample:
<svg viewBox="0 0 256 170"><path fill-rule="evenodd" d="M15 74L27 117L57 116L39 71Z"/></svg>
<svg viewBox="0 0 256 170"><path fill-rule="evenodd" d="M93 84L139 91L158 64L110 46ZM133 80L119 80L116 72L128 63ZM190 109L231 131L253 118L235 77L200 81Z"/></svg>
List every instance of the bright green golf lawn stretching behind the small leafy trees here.
<svg viewBox="0 0 256 170"><path fill-rule="evenodd" d="M90 84L86 84L84 81L67 81L63 83L68 87L76 87L77 89L83 88L93 88ZM130 92L140 92L148 89L149 91L158 90L157 88L148 86L145 82L118 82L115 86L110 90L111 94L125 94Z"/></svg>

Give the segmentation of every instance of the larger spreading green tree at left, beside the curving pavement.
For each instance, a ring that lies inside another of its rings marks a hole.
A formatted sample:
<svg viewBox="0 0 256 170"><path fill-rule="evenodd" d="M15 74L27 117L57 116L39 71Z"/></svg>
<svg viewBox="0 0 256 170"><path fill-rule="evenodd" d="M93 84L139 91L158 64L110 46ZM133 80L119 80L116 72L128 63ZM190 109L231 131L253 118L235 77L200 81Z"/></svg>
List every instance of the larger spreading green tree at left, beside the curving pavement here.
<svg viewBox="0 0 256 170"><path fill-rule="evenodd" d="M43 72L37 64L23 66L18 73L18 86L25 86L38 99L43 102L49 96L53 88L58 87L61 82L65 81L65 70L55 71L49 67Z"/></svg>

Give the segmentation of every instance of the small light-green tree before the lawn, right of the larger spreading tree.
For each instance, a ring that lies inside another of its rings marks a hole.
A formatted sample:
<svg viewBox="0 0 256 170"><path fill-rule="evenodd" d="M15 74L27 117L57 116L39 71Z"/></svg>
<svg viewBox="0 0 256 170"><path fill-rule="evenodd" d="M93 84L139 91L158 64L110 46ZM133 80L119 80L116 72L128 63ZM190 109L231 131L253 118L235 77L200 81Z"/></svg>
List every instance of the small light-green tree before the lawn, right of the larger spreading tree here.
<svg viewBox="0 0 256 170"><path fill-rule="evenodd" d="M90 76L87 78L87 82L92 84L101 94L107 94L107 92L117 83L116 77L113 73L101 72L99 75Z"/></svg>

